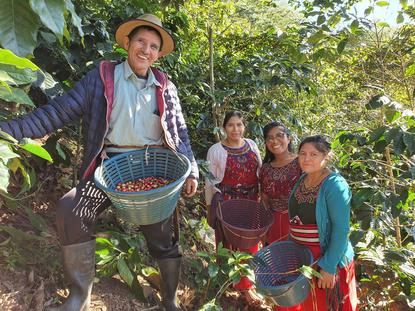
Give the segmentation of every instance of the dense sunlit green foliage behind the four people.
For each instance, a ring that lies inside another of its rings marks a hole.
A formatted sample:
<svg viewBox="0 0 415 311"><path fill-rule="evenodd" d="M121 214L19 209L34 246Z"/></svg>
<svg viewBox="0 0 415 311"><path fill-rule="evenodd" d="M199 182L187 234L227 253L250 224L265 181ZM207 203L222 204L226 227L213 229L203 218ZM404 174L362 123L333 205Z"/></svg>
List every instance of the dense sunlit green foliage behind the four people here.
<svg viewBox="0 0 415 311"><path fill-rule="evenodd" d="M393 28L374 21L374 12L388 1L372 1L364 16L349 10L354 1L341 0L291 1L303 11L273 0L11 2L0 5L5 29L0 98L23 106L1 109L0 118L64 94L104 59L124 59L113 36L117 24L156 14L178 44L155 65L178 86L196 158L204 159L222 138L221 120L231 109L245 113L246 136L259 146L271 120L286 122L296 140L327 136L334 169L352 187L350 238L362 310L415 308L415 8L410 1L400 0L399 10L389 12L398 25ZM32 53L33 63L25 59ZM54 137L46 150L59 164L70 152ZM9 160L15 157L7 154L17 151L17 142L10 142L0 141L2 171L15 171L16 161ZM22 167L30 170L29 163ZM0 194L7 196L8 181L0 183Z"/></svg>

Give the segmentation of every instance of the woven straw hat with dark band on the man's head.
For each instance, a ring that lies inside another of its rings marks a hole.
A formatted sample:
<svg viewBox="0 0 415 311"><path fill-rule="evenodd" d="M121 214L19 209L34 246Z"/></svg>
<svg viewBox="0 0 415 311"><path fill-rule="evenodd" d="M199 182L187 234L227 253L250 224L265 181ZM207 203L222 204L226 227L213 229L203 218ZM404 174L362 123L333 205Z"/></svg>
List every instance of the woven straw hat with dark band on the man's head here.
<svg viewBox="0 0 415 311"><path fill-rule="evenodd" d="M117 44L122 48L125 49L124 46L124 37L128 36L129 33L137 26L147 25L154 27L159 31L161 34L161 39L163 40L163 47L161 48L161 55L164 56L168 53L171 53L176 48L176 41L174 41L173 37L166 29L163 28L161 25L161 20L159 17L153 14L144 14L139 16L136 19L128 19L125 22L122 22L118 25L117 29L115 29L115 41Z"/></svg>

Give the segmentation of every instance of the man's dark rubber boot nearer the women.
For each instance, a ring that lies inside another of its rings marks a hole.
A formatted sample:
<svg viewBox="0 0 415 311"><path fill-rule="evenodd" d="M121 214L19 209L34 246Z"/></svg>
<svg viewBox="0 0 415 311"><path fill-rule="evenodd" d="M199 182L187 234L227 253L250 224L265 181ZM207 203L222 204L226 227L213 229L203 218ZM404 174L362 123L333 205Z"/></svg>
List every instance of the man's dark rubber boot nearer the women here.
<svg viewBox="0 0 415 311"><path fill-rule="evenodd" d="M161 297L166 311L183 311L177 303L182 255L178 258L157 260Z"/></svg>

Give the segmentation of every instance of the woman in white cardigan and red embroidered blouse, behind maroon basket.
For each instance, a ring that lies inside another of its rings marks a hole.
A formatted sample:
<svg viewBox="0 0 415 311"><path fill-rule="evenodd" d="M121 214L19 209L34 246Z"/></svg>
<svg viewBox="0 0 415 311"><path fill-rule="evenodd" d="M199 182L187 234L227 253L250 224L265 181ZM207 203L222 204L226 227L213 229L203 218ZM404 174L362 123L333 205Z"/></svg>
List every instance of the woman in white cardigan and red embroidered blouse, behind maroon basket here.
<svg viewBox="0 0 415 311"><path fill-rule="evenodd" d="M249 249L240 249L227 243L215 216L215 210L222 200L259 201L261 156L254 141L242 138L245 126L246 122L241 112L228 112L223 120L226 138L210 147L207 152L209 170L214 177L212 180L209 177L205 180L207 223L215 229L216 246L222 242L225 248L234 251L256 253L258 245ZM262 301L249 279L242 277L238 284L234 284L234 288L240 289L251 305L261 308Z"/></svg>

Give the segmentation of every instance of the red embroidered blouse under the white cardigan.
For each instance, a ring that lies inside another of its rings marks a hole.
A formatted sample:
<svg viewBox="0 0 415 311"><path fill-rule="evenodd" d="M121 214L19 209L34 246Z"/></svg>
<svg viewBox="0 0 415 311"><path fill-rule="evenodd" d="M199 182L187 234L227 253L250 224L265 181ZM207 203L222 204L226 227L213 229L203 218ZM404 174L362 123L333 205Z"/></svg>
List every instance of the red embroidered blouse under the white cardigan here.
<svg viewBox="0 0 415 311"><path fill-rule="evenodd" d="M225 174L222 183L225 185L254 185L258 183L259 161L249 143L245 141L242 148L229 148L222 145L227 151Z"/></svg>

